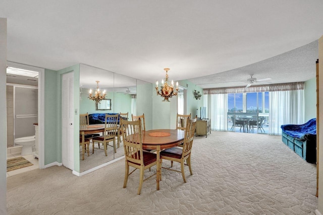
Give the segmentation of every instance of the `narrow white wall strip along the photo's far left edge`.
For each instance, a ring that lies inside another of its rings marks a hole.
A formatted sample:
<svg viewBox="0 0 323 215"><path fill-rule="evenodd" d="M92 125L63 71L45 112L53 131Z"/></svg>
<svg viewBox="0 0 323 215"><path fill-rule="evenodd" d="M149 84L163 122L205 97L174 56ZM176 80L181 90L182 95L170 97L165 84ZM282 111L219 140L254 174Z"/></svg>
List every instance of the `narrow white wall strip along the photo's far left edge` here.
<svg viewBox="0 0 323 215"><path fill-rule="evenodd" d="M7 115L6 70L7 19L0 18L0 110L3 116ZM0 120L0 131L0 214L7 214L7 120Z"/></svg>

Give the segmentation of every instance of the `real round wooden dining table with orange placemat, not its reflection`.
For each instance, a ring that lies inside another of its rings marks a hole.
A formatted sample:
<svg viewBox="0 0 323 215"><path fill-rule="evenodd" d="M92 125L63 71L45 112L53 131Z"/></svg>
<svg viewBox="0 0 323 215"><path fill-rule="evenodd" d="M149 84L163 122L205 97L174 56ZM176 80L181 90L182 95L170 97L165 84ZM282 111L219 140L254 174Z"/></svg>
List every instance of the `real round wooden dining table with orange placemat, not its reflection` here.
<svg viewBox="0 0 323 215"><path fill-rule="evenodd" d="M185 130L180 129L153 129L142 131L142 149L156 150L157 172L156 189L159 190L159 181L161 180L160 151L173 148L184 141Z"/></svg>

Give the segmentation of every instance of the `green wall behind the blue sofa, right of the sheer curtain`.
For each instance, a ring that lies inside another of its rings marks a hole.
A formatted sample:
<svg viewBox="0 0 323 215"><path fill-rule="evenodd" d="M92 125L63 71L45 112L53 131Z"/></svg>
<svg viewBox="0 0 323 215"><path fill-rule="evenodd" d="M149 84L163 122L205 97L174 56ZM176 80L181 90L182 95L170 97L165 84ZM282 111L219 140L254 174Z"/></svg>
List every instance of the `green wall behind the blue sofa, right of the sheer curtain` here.
<svg viewBox="0 0 323 215"><path fill-rule="evenodd" d="M316 118L316 78L305 82L304 86L305 97L305 122L312 118Z"/></svg>

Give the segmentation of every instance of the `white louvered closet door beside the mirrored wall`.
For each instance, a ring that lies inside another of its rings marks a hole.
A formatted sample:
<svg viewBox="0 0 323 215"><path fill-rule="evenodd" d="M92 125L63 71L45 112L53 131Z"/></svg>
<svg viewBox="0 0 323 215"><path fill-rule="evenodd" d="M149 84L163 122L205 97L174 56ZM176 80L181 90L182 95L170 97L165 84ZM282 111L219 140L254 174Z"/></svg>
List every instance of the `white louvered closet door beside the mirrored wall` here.
<svg viewBox="0 0 323 215"><path fill-rule="evenodd" d="M62 161L74 170L74 73L63 75L62 89Z"/></svg>

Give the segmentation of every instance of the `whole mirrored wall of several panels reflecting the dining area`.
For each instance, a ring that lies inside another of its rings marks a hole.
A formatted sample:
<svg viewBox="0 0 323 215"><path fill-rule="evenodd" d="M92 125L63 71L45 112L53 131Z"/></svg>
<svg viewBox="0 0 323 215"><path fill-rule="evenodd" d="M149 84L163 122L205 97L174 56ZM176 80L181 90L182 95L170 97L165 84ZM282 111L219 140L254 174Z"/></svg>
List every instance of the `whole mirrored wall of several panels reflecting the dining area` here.
<svg viewBox="0 0 323 215"><path fill-rule="evenodd" d="M106 96L102 103L97 104L90 100L89 91L94 94L98 88L101 92L105 90ZM105 113L107 114L145 114L146 129L151 129L152 124L152 84L136 80L131 77L113 73L108 70L80 65L80 114L89 114L89 124L104 126ZM102 135L102 133L98 133ZM85 154L82 160L82 149L80 147L80 172L92 169L106 162L120 158L124 155L123 141L120 137L119 145L116 137L116 152L114 152L113 142L107 146L107 156L105 156L102 145L90 143L89 156ZM93 150L94 149L94 150ZM94 152L94 153L92 153Z"/></svg>

